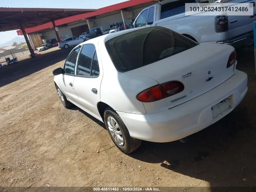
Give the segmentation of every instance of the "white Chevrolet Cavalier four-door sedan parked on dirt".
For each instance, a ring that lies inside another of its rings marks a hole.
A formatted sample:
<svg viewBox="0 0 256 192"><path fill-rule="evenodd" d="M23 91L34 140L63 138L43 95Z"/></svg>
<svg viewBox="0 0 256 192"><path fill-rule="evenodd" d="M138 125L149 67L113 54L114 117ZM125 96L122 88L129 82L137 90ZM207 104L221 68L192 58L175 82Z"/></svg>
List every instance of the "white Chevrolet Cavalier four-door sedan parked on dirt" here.
<svg viewBox="0 0 256 192"><path fill-rule="evenodd" d="M115 145L131 153L141 140L180 140L230 113L248 89L236 65L230 45L145 27L76 46L53 74L62 104L104 122Z"/></svg>

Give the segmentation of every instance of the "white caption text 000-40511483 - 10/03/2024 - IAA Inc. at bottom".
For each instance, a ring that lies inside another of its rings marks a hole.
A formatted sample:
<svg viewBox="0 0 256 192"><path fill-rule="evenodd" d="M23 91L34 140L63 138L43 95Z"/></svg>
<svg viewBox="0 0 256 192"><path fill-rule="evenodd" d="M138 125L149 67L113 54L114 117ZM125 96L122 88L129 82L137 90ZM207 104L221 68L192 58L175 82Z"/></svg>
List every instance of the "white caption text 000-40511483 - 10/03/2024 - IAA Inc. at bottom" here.
<svg viewBox="0 0 256 192"><path fill-rule="evenodd" d="M157 187L94 187L94 191L160 191Z"/></svg>

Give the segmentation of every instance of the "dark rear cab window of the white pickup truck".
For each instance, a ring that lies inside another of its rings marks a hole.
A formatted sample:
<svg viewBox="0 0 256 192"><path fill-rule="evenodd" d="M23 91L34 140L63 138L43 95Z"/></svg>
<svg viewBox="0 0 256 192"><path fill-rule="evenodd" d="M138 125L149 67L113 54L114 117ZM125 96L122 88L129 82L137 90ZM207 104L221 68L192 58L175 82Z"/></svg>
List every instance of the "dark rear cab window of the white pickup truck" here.
<svg viewBox="0 0 256 192"><path fill-rule="evenodd" d="M185 13L185 3L196 3L195 0L179 0L161 6L161 19Z"/></svg>

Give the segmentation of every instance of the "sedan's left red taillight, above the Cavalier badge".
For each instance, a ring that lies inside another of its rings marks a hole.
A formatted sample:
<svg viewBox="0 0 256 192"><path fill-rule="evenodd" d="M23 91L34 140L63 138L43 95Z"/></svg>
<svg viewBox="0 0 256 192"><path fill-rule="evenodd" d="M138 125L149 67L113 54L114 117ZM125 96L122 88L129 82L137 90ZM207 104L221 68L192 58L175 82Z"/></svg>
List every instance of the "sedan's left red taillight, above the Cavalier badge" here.
<svg viewBox="0 0 256 192"><path fill-rule="evenodd" d="M184 85L181 82L171 81L142 91L137 95L137 99L141 102L153 102L173 96L183 90Z"/></svg>

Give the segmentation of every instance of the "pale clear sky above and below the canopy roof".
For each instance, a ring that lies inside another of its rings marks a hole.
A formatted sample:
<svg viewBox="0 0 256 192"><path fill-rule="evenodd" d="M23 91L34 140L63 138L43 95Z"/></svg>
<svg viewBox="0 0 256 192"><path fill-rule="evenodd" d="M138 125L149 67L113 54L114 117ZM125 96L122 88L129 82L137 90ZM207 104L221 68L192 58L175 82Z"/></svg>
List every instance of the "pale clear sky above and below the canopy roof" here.
<svg viewBox="0 0 256 192"><path fill-rule="evenodd" d="M29 8L102 8L109 5L121 3L127 0L0 0L1 7L29 7ZM14 31L0 32L0 44L12 40L18 34Z"/></svg>

